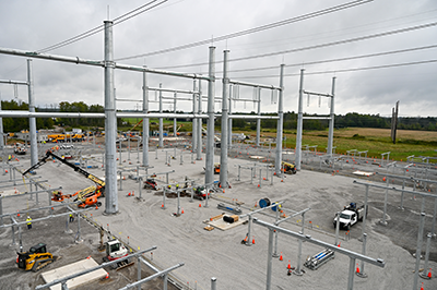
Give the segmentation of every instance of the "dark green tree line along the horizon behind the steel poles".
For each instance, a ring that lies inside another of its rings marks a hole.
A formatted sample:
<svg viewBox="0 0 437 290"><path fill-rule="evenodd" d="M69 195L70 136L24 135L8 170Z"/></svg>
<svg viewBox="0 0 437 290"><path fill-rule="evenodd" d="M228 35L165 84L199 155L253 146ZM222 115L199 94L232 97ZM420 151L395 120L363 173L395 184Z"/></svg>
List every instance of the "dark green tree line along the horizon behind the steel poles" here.
<svg viewBox="0 0 437 290"><path fill-rule="evenodd" d="M22 110L28 111L28 104L17 102L16 100L2 100L2 110ZM61 101L59 107L56 109L50 108L35 108L37 112L44 111L60 111L60 112L86 112L86 113L104 113L105 108L101 105L86 105L83 101ZM178 113L182 113L178 111ZM247 113L244 113L247 114ZM251 112L250 114L256 114ZM263 116L276 116L275 113L264 113ZM316 114L304 114L312 116ZM173 120L173 119L172 119ZM182 121L184 118L178 118ZM189 121L189 120L187 120ZM205 123L206 120L203 120ZM37 118L37 129L52 129L55 124L62 126L105 126L105 119L103 118ZM221 124L221 119L217 118L215 125ZM122 120L117 119L117 125L122 125ZM328 120L305 120L304 130L326 130L329 126ZM364 114L357 112L350 112L346 114L335 114L335 128L382 128L390 129L391 118L381 117L379 114ZM240 130L256 130L257 121L247 119L234 119L233 128ZM263 119L261 120L261 128L275 129L276 120ZM295 130L297 128L297 113L294 111L284 113L284 130ZM3 131L4 132L19 132L23 129L28 129L28 118L3 118ZM437 131L437 118L436 117L401 117L399 118L398 129L403 130L423 130L423 131Z"/></svg>

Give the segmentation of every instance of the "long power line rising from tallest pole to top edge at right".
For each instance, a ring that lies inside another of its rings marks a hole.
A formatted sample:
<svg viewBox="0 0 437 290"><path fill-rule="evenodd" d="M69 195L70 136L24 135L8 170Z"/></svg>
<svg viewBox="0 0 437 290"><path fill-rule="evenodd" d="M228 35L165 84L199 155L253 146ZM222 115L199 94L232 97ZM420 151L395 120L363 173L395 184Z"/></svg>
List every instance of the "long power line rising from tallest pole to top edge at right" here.
<svg viewBox="0 0 437 290"><path fill-rule="evenodd" d="M192 47L197 47L197 46L206 45L206 44L210 44L212 40L213 41L223 41L223 40L226 40L226 39L231 39L231 38L235 38L235 37L239 37L239 36L245 36L245 35L248 35L248 34L253 34L253 33L258 33L258 32L275 28L275 27L279 27L279 26L282 26L282 25L287 25L287 24L291 24L291 23L295 23L295 22L312 19L312 17L316 17L316 16L329 14L329 13L332 13L332 12L341 11L341 10L344 10L344 9L353 8L353 7L361 5L361 4L368 3L368 2L373 2L373 1L374 0L356 0L356 1L344 3L344 4L340 4L340 5L336 5L336 7L332 7L332 8L319 10L319 11L316 11L316 12L311 12L311 13L308 13L308 14L304 14L304 15L300 15L300 16L296 16L296 17L293 17L293 19L287 19L287 20L283 20L283 21L279 21L279 22L274 22L274 23L270 23L270 24L265 24L265 25L262 25L262 26L258 26L258 27L255 27L255 28L250 28L250 29L246 29L246 31L241 31L241 32L237 32L237 33L227 34L227 35L220 36L220 37L216 37L216 38L213 38L213 39L205 39L205 40L200 40L200 41L196 41L196 43L191 43L191 44L187 44L187 45L166 48L166 49L162 49L162 50L157 50L157 51L153 51L153 52L146 52L146 53L135 55L135 56L131 56L131 57L119 58L119 59L116 59L116 61L137 59L137 58L143 58L143 57L150 57L150 56L155 56L155 55L173 52L173 51L177 51L177 50L182 50L182 49L187 49L187 48L192 48Z"/></svg>

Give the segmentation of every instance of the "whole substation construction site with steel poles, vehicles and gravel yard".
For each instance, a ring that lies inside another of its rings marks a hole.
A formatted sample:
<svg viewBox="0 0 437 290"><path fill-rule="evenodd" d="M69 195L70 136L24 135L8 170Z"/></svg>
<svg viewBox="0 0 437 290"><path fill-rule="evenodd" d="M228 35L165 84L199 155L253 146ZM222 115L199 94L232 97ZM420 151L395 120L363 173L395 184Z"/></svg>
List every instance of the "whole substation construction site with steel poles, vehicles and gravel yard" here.
<svg viewBox="0 0 437 290"><path fill-rule="evenodd" d="M101 27L104 60L0 48L27 64L26 81L0 83L28 92L28 110L0 108L0 118L26 118L29 126L28 146L0 138L0 289L437 289L435 155L336 154L336 76L320 76L330 93L318 93L304 69L294 92L296 144L285 148L285 64L279 85L231 77L227 49L218 76L214 46L208 74L123 64L114 58L113 26ZM101 69L103 112L35 111L34 59ZM116 97L121 73L139 76L141 98L122 98L122 85ZM327 100L329 111L304 116L305 96ZM274 113L262 112L267 99ZM141 110L120 110L122 101ZM235 102L253 112L234 111ZM178 111L180 104L192 110ZM101 119L105 128L98 138L38 142L38 118ZM119 132L122 118L141 119L138 132ZM178 132L178 118L192 122L189 134ZM397 118L398 108L393 141ZM174 120L166 132L164 119ZM235 137L237 119L256 121L252 140ZM310 119L329 123L324 149L303 144ZM261 137L261 120L276 124L275 137Z"/></svg>

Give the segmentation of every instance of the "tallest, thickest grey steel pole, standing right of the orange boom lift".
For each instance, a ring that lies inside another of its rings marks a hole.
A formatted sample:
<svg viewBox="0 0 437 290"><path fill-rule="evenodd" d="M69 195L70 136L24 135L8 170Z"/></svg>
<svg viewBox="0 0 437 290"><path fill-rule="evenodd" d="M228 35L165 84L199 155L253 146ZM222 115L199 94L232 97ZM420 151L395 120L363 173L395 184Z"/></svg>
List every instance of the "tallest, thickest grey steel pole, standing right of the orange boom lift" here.
<svg viewBox="0 0 437 290"><path fill-rule="evenodd" d="M118 213L116 137L117 119L114 97L113 22L105 21L105 214Z"/></svg>

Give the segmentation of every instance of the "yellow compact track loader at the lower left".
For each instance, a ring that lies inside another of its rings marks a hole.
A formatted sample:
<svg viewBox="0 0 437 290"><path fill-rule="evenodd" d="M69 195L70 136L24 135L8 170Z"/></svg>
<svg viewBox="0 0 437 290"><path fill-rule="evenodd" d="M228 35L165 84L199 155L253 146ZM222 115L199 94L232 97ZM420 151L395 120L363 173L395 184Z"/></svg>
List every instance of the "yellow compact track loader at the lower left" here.
<svg viewBox="0 0 437 290"><path fill-rule="evenodd" d="M50 263L54 263L57 257L47 252L45 243L38 243L28 250L28 252L16 252L16 264L19 268L24 270L37 271Z"/></svg>

